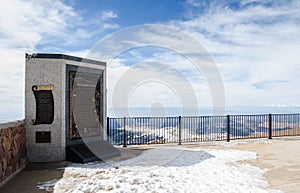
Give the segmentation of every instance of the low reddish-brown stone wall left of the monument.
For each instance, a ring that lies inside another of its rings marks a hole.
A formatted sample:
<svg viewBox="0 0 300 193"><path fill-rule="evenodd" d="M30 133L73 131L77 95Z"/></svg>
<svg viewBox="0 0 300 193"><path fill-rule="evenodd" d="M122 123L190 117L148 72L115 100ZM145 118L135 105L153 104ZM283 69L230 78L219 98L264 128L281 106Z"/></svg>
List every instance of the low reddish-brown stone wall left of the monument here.
<svg viewBox="0 0 300 193"><path fill-rule="evenodd" d="M0 123L0 186L26 165L25 122Z"/></svg>

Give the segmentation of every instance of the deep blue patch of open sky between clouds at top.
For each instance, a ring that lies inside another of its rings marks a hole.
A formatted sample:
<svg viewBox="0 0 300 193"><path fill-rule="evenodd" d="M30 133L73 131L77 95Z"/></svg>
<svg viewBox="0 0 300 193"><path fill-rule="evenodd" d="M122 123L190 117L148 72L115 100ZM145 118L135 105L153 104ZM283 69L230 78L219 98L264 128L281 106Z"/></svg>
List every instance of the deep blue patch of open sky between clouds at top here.
<svg viewBox="0 0 300 193"><path fill-rule="evenodd" d="M95 39L100 40L105 35L125 27L183 20L186 18L185 10L188 5L183 0L71 0L65 1L65 3L70 5L80 18L77 24L74 22L74 25L66 29L77 33L80 33L78 30L82 30L81 35L84 42L81 41L80 44L77 44L75 49L90 49L95 44ZM106 28L102 29L104 27L100 25L106 25ZM89 35L85 37L83 33ZM49 46L49 42L47 44ZM72 44L60 45L60 47L74 50ZM45 49L43 41L39 42L37 49Z"/></svg>

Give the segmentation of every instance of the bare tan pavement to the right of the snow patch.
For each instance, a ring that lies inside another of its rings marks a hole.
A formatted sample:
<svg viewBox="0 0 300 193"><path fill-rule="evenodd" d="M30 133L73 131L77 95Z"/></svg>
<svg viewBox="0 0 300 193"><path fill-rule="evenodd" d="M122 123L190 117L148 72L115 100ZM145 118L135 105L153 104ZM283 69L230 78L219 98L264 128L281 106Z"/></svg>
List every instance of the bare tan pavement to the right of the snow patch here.
<svg viewBox="0 0 300 193"><path fill-rule="evenodd" d="M258 159L249 163L268 169L265 177L272 189L285 193L300 192L300 137L285 137L274 143L245 144L235 148L257 153Z"/></svg>

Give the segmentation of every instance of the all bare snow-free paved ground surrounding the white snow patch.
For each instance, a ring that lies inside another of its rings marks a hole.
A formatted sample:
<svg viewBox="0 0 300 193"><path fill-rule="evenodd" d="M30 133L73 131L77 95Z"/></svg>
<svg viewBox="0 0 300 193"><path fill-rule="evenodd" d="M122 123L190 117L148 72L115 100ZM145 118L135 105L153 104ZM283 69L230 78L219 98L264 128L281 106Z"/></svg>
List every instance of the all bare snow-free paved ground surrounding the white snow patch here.
<svg viewBox="0 0 300 193"><path fill-rule="evenodd" d="M157 145L156 145L157 146ZM159 145L166 147L170 145ZM171 145L174 146L174 145ZM300 137L285 137L274 140L273 143L250 143L240 144L233 147L215 146L211 143L188 144L186 147L218 149L240 149L254 151L258 154L258 159L249 161L250 164L260 168L267 168L265 177L269 181L272 189L279 189L286 193L299 192L300 189ZM155 145L137 146L138 150L121 151L122 157L114 160L128 159L139 155L144 149L154 148ZM67 162L61 163L30 163L27 167L15 176L11 181L0 188L0 193L42 193L38 190L38 182L44 182L63 177L63 170L58 168L66 166Z"/></svg>

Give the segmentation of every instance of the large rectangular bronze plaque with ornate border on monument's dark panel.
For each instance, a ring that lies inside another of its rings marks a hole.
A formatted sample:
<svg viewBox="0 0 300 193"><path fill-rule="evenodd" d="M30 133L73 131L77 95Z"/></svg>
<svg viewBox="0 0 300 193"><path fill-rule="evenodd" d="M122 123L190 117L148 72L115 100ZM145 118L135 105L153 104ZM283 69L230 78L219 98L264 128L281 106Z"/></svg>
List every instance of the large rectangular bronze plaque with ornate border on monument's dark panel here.
<svg viewBox="0 0 300 193"><path fill-rule="evenodd" d="M69 78L69 139L99 136L103 113L102 76L70 71Z"/></svg>

